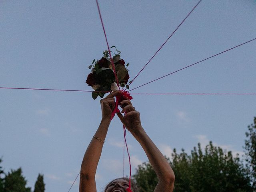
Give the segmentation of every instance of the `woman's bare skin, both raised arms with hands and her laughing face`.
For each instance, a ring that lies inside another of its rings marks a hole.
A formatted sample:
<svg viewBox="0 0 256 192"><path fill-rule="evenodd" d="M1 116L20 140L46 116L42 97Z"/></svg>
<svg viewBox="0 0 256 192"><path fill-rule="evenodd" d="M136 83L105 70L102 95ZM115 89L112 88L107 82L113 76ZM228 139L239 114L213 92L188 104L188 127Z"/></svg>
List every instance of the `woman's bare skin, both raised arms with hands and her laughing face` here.
<svg viewBox="0 0 256 192"><path fill-rule="evenodd" d="M106 138L111 122L111 114L115 106L114 97L119 93L119 91L112 92L106 98L100 100L102 120L94 136L101 140L105 140ZM158 184L154 192L172 192L175 180L174 172L160 150L158 150L142 128L140 113L134 110L129 100L123 100L120 104L122 106L122 112L117 113L118 117L140 143L158 177ZM126 112L126 115L123 116L122 113L124 112ZM82 161L79 192L96 192L95 174L102 148L103 142L93 138ZM126 192L125 190L128 188L126 180L118 179L114 180L112 183L113 184L110 184L111 186L108 185L107 192L114 192L114 190Z"/></svg>

